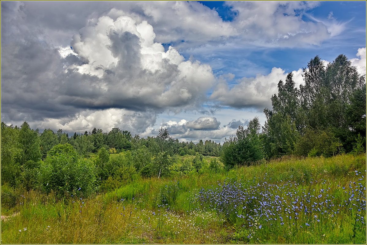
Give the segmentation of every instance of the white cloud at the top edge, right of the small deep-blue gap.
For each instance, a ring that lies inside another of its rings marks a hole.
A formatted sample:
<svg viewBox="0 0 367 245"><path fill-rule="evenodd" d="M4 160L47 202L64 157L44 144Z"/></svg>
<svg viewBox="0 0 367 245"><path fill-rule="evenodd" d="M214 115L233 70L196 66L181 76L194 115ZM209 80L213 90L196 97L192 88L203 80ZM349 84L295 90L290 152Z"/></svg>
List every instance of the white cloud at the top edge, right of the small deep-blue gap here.
<svg viewBox="0 0 367 245"><path fill-rule="evenodd" d="M319 45L330 37L324 23L306 22L305 11L317 2L239 1L226 2L238 14L233 25L240 39L257 46Z"/></svg>

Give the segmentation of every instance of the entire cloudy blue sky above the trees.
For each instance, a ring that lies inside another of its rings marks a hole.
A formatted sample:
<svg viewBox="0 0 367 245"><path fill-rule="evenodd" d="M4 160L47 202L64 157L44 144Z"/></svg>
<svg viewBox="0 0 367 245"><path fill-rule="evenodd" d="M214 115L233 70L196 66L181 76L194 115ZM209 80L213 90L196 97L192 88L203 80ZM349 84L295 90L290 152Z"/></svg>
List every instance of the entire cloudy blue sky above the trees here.
<svg viewBox="0 0 367 245"><path fill-rule="evenodd" d="M366 74L366 1L1 1L1 120L223 143L339 54Z"/></svg>

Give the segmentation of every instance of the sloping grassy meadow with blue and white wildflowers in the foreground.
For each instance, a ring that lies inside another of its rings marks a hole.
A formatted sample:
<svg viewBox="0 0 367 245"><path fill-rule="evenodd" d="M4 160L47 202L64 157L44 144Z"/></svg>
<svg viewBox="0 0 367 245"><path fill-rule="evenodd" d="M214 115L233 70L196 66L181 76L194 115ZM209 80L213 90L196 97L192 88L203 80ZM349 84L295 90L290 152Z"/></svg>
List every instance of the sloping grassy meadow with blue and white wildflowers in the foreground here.
<svg viewBox="0 0 367 245"><path fill-rule="evenodd" d="M366 244L365 155L139 178L88 198L18 194L2 244Z"/></svg>

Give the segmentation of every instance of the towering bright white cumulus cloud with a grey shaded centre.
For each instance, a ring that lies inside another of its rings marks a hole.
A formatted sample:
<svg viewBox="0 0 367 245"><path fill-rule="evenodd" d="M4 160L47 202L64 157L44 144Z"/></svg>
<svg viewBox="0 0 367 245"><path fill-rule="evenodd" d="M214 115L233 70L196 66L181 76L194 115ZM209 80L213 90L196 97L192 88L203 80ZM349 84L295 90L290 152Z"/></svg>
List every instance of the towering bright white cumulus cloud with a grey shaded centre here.
<svg viewBox="0 0 367 245"><path fill-rule="evenodd" d="M86 62L68 69L97 76L94 84L89 84L96 89L93 95L97 97L78 99L78 103L121 108L129 107L129 103L137 108L181 110L206 100L206 92L215 80L211 67L185 61L172 47L165 52L160 43L154 42L153 27L146 21L137 23L129 16L113 21L102 16L90 23L72 42L73 54ZM59 52L65 56L70 53L66 50L60 48Z"/></svg>

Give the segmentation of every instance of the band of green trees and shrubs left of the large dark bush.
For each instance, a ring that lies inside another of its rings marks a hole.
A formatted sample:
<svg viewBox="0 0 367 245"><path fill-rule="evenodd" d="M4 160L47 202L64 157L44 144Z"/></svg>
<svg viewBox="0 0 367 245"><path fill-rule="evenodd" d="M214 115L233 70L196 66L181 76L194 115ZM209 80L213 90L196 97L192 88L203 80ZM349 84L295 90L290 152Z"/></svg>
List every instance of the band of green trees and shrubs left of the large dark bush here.
<svg viewBox="0 0 367 245"><path fill-rule="evenodd" d="M179 142L161 128L156 137L131 136L113 128L94 128L72 137L59 129L33 130L1 122L1 185L83 194L106 191L141 177L188 174L210 167L203 156L219 156L221 144ZM191 155L181 163L178 156ZM214 164L214 165L213 165ZM219 164L213 162L213 169Z"/></svg>

